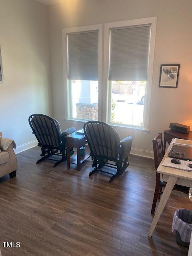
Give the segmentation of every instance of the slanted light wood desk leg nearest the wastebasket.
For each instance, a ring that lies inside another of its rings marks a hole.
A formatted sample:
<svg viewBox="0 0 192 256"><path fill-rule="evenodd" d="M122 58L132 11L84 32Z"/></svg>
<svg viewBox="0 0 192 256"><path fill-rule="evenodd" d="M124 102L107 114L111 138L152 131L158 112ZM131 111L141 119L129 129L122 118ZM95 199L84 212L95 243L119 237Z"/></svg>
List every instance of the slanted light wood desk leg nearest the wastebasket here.
<svg viewBox="0 0 192 256"><path fill-rule="evenodd" d="M162 198L159 202L158 208L156 210L155 216L154 216L152 224L150 226L150 230L149 230L149 233L148 233L149 237L151 237L152 234L153 234L153 231L156 227L156 224L157 224L157 222L158 222L158 220L159 220L159 218L162 214L162 211L163 211L163 209L164 209L164 207L165 207L165 205L168 201L168 198L169 198L169 196L170 196L170 194L171 194L171 192L174 188L174 185L175 185L176 181L177 181L177 177L169 176L169 179L168 179L168 182L166 184L165 190L163 192Z"/></svg>

